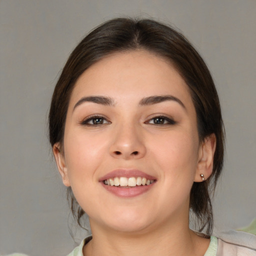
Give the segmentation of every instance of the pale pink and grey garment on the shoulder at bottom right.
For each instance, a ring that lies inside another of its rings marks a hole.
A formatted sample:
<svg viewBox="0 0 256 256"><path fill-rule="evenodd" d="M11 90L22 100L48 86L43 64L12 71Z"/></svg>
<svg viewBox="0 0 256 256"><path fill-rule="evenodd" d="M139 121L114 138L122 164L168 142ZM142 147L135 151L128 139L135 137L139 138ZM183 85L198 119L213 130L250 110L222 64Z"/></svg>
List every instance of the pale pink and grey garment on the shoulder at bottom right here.
<svg viewBox="0 0 256 256"><path fill-rule="evenodd" d="M217 235L216 256L256 256L256 235L230 230Z"/></svg>

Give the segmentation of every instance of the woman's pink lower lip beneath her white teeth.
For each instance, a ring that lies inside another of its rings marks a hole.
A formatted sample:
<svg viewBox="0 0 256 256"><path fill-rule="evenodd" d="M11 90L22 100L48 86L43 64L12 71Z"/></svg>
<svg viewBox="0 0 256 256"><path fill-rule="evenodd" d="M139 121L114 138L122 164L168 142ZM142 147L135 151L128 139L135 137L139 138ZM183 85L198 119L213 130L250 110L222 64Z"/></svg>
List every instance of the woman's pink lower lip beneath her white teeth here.
<svg viewBox="0 0 256 256"><path fill-rule="evenodd" d="M147 192L149 189L151 189L155 182L153 182L149 185L132 186L132 187L127 187L127 188L124 188L121 186L109 186L109 185L105 185L103 182L101 182L101 183L107 191L109 191L117 196L135 197L135 196L143 194L143 193Z"/></svg>

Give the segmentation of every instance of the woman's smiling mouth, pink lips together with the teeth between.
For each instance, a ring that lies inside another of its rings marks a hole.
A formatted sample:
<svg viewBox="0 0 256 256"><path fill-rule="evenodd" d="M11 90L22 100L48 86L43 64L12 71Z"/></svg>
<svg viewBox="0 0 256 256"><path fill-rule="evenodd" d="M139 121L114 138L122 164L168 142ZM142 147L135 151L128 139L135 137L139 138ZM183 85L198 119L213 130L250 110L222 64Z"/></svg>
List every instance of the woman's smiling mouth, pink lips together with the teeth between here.
<svg viewBox="0 0 256 256"><path fill-rule="evenodd" d="M133 197L148 191L156 178L137 169L116 169L100 177L109 192L120 197Z"/></svg>

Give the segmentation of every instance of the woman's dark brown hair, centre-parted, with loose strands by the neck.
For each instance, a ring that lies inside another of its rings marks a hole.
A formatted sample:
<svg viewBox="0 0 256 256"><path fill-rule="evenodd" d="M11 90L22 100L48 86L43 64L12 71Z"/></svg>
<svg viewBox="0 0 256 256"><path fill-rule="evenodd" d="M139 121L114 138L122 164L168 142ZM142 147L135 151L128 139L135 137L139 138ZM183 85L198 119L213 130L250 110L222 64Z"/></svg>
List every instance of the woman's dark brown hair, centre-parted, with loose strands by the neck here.
<svg viewBox="0 0 256 256"><path fill-rule="evenodd" d="M199 138L214 133L216 149L211 176L204 182L194 182L190 192L190 209L197 229L210 234L212 207L210 193L223 165L224 128L216 88L210 72L199 53L179 32L151 19L116 18L92 30L70 54L55 86L49 110L49 141L63 145L63 135L70 94L77 78L96 61L117 51L144 49L171 61L190 89L197 115ZM81 225L84 211L68 187L70 208Z"/></svg>

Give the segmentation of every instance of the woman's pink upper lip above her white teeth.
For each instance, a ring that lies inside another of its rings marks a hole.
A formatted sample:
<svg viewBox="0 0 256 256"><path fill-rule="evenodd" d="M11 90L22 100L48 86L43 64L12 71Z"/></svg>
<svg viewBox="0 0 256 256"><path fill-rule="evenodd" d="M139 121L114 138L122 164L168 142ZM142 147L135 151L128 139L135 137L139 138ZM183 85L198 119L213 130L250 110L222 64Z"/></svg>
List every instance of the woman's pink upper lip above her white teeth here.
<svg viewBox="0 0 256 256"><path fill-rule="evenodd" d="M156 177L151 176L141 170L137 170L137 169L115 169L112 170L110 172L108 172L107 174L105 174L104 176L99 178L99 181L103 181L105 179L108 178L114 178L114 177L144 177L146 179L156 179Z"/></svg>

